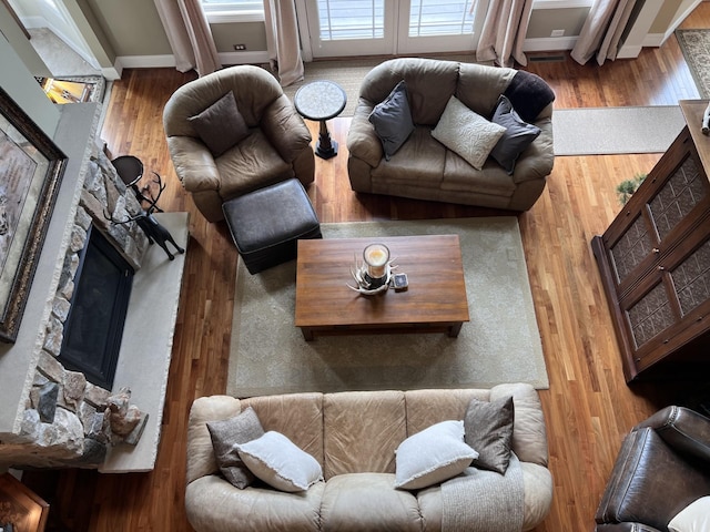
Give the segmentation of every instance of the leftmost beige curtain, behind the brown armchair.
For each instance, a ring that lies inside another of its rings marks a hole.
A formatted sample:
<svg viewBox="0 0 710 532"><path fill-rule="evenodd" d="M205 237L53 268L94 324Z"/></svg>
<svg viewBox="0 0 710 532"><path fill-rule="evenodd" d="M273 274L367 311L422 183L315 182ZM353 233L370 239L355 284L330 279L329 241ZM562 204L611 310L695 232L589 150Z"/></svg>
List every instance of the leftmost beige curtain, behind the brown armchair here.
<svg viewBox="0 0 710 532"><path fill-rule="evenodd" d="M154 0L180 72L205 75L222 68L200 0Z"/></svg>

